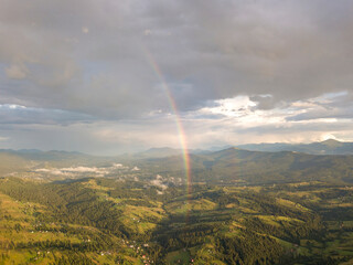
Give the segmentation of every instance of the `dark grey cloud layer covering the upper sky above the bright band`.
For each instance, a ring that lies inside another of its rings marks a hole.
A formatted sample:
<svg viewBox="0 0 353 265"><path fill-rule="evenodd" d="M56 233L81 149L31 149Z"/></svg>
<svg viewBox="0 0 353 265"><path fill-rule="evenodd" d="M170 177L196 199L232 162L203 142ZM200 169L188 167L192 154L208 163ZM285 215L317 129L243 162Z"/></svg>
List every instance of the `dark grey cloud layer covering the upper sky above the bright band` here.
<svg viewBox="0 0 353 265"><path fill-rule="evenodd" d="M124 118L351 93L352 1L0 1L0 103Z"/></svg>

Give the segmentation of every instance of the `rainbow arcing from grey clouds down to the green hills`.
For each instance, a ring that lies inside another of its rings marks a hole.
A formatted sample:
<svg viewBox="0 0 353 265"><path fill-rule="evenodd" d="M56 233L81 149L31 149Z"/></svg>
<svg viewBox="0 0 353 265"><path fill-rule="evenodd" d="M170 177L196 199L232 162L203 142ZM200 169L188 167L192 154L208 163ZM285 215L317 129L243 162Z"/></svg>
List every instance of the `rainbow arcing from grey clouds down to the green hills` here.
<svg viewBox="0 0 353 265"><path fill-rule="evenodd" d="M175 116L175 125L176 125L176 129L178 129L178 135L179 135L179 142L182 149L182 156L183 156L183 163L184 163L184 171L185 171L185 179L186 179L186 194L188 194L188 205L186 205L186 222L189 220L189 202L190 202L190 198L191 198L191 192L192 192L192 180L191 180L191 165L190 165L190 155L188 151L188 140L186 140L186 134L184 131L184 127L181 120L181 117L179 115L178 112L178 107L176 107L176 103L172 96L171 89L169 88L167 82L164 81L162 71L160 70L159 65L157 64L154 57L152 56L152 54L147 50L143 49L145 54L147 56L147 60L149 62L149 64L152 66L152 70L154 72L154 74L157 75L158 80L160 81L167 98L168 98L168 103Z"/></svg>

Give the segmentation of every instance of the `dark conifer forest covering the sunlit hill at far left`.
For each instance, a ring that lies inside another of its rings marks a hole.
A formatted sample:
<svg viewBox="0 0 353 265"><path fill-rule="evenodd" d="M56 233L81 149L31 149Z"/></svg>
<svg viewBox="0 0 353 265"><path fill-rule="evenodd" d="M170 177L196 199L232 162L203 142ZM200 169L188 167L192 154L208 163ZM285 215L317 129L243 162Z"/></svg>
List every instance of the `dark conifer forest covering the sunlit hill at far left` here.
<svg viewBox="0 0 353 265"><path fill-rule="evenodd" d="M89 225L115 235L128 236L118 221L121 213L114 209L114 202L100 200L96 191L79 182L39 184L15 178L3 181L0 191L4 194L19 201L41 203L50 209L52 214L38 215L42 222Z"/></svg>

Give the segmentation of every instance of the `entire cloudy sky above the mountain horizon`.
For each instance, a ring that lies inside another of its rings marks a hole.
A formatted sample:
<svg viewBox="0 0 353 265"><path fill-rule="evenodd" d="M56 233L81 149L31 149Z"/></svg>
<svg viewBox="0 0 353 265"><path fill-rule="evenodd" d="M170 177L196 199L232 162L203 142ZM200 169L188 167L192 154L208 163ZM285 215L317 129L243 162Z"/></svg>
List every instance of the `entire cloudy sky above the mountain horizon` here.
<svg viewBox="0 0 353 265"><path fill-rule="evenodd" d="M353 140L351 0L0 7L0 148Z"/></svg>

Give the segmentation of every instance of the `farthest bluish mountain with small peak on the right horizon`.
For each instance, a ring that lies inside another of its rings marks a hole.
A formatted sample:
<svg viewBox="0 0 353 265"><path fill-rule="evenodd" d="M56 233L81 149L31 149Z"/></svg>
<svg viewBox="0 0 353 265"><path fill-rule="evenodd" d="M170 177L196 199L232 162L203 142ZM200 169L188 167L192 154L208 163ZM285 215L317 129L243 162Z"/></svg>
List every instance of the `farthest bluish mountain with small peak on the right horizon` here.
<svg viewBox="0 0 353 265"><path fill-rule="evenodd" d="M240 145L237 148L250 151L298 151L310 155L353 155L353 142L343 142L334 139L311 144L252 144Z"/></svg>

